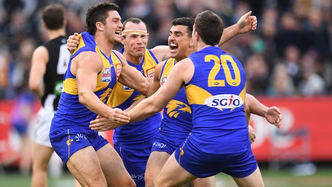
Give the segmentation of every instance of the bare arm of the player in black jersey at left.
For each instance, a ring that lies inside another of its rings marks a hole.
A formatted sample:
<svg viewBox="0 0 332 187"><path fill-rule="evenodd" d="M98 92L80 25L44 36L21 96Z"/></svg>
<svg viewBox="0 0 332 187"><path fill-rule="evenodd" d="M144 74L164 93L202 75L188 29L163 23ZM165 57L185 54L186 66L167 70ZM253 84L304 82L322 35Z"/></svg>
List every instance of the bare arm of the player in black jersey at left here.
<svg viewBox="0 0 332 187"><path fill-rule="evenodd" d="M46 72L46 64L48 61L49 52L44 46L39 46L35 49L32 55L29 88L38 98L41 98L44 95L43 77Z"/></svg>

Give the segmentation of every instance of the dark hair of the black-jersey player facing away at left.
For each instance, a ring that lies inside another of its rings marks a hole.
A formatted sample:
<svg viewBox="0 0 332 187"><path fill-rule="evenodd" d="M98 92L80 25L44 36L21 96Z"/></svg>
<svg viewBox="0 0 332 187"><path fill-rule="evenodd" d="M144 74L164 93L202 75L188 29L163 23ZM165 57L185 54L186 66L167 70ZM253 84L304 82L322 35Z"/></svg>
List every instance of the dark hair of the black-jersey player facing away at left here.
<svg viewBox="0 0 332 187"><path fill-rule="evenodd" d="M60 29L64 21L64 7L60 4L46 6L42 11L42 19L48 29Z"/></svg>

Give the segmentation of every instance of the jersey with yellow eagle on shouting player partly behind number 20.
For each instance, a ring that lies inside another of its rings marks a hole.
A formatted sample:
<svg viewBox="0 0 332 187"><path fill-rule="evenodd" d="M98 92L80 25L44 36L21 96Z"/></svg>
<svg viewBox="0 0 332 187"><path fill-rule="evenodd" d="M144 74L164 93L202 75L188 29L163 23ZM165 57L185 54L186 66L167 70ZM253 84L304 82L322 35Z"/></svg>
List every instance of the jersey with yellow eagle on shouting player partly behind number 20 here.
<svg viewBox="0 0 332 187"><path fill-rule="evenodd" d="M167 81L174 65L174 58L170 58L164 63L159 78L160 86ZM184 87L181 87L176 96L163 109L159 134L167 137L169 141L182 143L192 129L192 109L186 98Z"/></svg>

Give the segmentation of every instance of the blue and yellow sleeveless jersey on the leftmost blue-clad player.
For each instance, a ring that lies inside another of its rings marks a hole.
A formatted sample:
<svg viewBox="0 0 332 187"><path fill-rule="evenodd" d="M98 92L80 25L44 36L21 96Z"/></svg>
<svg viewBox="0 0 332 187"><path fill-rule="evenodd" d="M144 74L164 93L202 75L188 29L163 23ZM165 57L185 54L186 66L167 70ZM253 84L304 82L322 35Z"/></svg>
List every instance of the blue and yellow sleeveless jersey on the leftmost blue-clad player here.
<svg viewBox="0 0 332 187"><path fill-rule="evenodd" d="M100 51L93 35L83 32L79 35L80 44L73 56L69 60L68 69L63 79L63 89L58 105L58 110L54 114L50 132L56 131L59 128L89 128L90 121L96 119L97 114L90 111L83 104L79 102L78 87L76 77L70 72L72 59L78 54L86 51L91 51L100 55L103 68L98 74L97 86L93 91L94 94L106 104L112 88L114 87L118 76L120 76L122 62L118 56L112 52L110 57L106 57Z"/></svg>

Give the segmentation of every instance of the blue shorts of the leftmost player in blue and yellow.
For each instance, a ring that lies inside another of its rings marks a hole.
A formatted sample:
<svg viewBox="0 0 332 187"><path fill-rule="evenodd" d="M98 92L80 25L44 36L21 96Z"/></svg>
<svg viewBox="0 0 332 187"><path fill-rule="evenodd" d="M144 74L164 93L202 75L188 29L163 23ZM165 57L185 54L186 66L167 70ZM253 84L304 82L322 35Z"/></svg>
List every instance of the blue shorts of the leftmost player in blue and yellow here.
<svg viewBox="0 0 332 187"><path fill-rule="evenodd" d="M50 142L54 151L66 164L68 158L76 151L92 146L95 151L108 144L98 131L83 128L59 129L50 133Z"/></svg>

